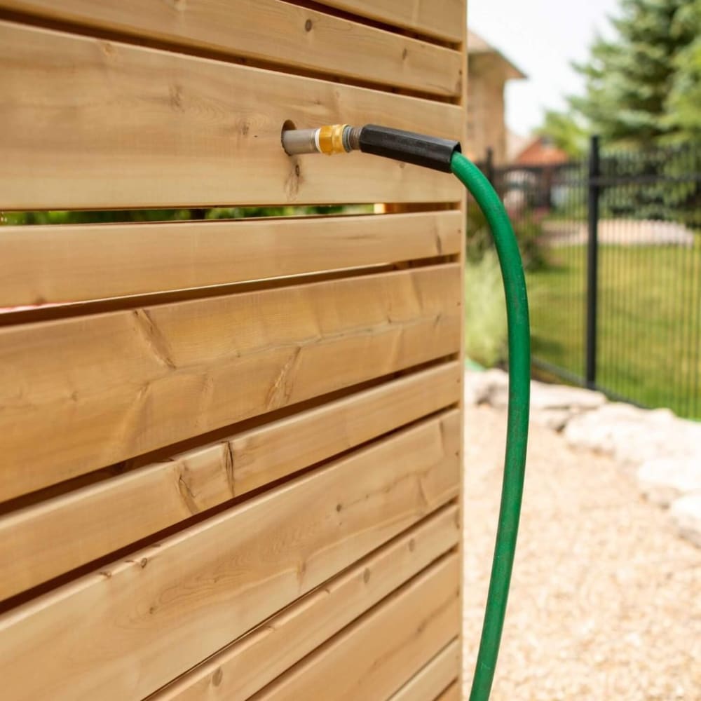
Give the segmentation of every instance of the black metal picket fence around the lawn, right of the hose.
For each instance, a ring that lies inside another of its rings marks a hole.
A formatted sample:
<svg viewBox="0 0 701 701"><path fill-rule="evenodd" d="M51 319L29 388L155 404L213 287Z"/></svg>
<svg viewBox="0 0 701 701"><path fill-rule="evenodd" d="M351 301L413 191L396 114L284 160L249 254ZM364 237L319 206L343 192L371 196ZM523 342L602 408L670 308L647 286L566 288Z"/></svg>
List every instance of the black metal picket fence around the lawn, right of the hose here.
<svg viewBox="0 0 701 701"><path fill-rule="evenodd" d="M536 366L613 398L701 418L701 148L483 164L527 271Z"/></svg>

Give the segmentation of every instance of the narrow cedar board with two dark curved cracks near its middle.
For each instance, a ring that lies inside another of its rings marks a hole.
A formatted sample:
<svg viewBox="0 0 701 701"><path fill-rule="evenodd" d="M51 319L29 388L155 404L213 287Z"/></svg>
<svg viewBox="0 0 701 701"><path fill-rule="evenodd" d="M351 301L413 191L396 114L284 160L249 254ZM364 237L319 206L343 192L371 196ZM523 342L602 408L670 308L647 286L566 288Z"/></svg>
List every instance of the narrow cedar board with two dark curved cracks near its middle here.
<svg viewBox="0 0 701 701"><path fill-rule="evenodd" d="M0 599L459 400L457 362L0 517ZM456 421L444 424L459 440Z"/></svg>

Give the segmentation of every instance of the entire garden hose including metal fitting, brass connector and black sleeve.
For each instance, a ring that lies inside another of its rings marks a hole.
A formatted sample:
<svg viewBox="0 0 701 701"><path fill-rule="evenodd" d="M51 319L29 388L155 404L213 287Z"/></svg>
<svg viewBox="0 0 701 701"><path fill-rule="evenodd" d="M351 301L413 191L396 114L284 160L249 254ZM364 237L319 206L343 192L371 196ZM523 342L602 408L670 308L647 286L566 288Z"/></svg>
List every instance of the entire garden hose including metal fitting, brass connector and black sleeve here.
<svg viewBox="0 0 701 701"><path fill-rule="evenodd" d="M494 236L506 296L509 408L494 561L470 692L470 701L488 701L504 627L521 517L531 390L531 337L526 280L511 222L489 180L460 153L458 142L376 125L360 128L333 125L319 129L283 130L283 147L288 155L331 155L360 150L452 172L475 198Z"/></svg>

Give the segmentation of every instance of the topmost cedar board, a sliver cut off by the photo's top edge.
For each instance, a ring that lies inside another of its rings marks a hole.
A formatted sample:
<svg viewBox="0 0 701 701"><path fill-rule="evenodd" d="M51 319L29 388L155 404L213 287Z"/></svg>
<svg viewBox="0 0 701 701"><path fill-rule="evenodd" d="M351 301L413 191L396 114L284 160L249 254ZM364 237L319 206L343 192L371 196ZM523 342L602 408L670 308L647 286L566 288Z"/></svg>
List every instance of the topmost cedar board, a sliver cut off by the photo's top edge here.
<svg viewBox="0 0 701 701"><path fill-rule="evenodd" d="M323 0L325 5L447 41L463 40L465 0Z"/></svg>

